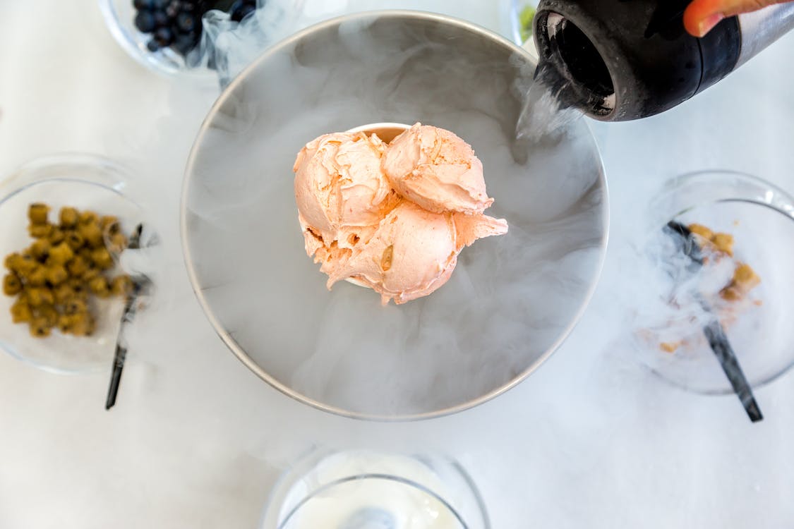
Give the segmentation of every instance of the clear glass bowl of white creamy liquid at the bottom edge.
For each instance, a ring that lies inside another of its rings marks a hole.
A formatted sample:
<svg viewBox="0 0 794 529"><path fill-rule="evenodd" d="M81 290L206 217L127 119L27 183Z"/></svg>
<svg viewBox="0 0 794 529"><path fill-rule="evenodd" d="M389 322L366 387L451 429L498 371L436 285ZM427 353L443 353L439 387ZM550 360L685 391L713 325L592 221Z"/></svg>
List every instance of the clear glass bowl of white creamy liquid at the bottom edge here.
<svg viewBox="0 0 794 529"><path fill-rule="evenodd" d="M279 479L260 529L488 529L480 493L443 456L310 454Z"/></svg>

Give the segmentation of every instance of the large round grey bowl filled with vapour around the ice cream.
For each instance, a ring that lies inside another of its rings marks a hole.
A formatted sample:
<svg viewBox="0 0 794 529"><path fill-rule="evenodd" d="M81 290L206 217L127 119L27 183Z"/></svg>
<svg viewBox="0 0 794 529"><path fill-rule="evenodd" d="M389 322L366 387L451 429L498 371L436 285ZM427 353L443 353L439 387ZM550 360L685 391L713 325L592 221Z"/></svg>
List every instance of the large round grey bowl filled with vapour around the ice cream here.
<svg viewBox="0 0 794 529"><path fill-rule="evenodd" d="M595 289L607 189L583 121L515 140L534 67L476 25L388 11L306 29L231 82L187 164L182 235L198 300L237 358L299 401L378 420L480 404L548 358ZM472 144L488 213L510 232L465 248L445 286L406 305L329 292L303 249L295 155L325 132L414 121Z"/></svg>

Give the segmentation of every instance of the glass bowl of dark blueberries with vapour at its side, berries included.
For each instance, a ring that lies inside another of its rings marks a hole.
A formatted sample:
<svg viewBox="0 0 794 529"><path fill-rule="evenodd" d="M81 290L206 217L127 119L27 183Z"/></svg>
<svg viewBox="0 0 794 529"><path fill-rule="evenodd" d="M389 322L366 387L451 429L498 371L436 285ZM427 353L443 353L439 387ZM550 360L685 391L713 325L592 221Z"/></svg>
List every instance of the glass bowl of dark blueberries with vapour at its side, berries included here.
<svg viewBox="0 0 794 529"><path fill-rule="evenodd" d="M303 0L99 0L110 33L133 59L165 75L213 79L235 32L256 52L294 31ZM220 68L219 68L220 66Z"/></svg>

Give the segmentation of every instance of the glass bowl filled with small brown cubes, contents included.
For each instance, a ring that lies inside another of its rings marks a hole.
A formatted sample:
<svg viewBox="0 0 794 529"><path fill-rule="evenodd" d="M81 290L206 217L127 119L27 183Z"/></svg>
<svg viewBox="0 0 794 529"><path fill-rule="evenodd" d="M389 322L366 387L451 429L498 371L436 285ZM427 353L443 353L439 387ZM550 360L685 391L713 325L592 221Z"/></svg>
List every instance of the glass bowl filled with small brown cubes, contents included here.
<svg viewBox="0 0 794 529"><path fill-rule="evenodd" d="M133 279L119 258L143 209L127 171L90 155L26 164L0 185L0 347L44 370L110 370Z"/></svg>

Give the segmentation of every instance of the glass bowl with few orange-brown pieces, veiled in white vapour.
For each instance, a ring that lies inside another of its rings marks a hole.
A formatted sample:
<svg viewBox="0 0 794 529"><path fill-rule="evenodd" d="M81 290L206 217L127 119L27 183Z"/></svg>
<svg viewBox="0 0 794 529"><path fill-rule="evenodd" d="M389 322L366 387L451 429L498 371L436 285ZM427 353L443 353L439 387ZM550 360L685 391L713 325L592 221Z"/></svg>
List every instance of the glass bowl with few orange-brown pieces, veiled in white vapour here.
<svg viewBox="0 0 794 529"><path fill-rule="evenodd" d="M634 350L654 373L696 393L733 388L704 333L719 321L751 387L794 365L791 274L794 197L760 178L703 171L666 182L651 205L654 227L626 281L634 295ZM662 227L686 226L703 258L676 251Z"/></svg>

